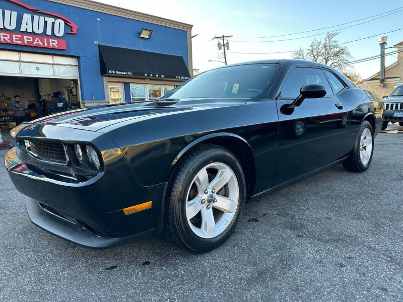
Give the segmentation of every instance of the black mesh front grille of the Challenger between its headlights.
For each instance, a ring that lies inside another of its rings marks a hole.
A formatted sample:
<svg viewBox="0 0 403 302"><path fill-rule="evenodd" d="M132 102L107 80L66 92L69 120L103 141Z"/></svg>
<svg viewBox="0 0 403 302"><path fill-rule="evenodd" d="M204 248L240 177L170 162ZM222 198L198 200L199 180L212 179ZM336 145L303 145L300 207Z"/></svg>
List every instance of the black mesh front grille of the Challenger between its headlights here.
<svg viewBox="0 0 403 302"><path fill-rule="evenodd" d="M25 148L36 160L67 165L66 151L62 143L47 140L26 140Z"/></svg>

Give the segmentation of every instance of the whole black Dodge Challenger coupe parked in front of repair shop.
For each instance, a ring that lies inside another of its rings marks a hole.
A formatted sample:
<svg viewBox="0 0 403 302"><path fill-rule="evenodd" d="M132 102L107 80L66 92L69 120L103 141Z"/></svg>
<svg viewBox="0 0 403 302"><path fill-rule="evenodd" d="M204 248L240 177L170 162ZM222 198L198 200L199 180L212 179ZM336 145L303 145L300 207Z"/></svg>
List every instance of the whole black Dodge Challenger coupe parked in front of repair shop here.
<svg viewBox="0 0 403 302"><path fill-rule="evenodd" d="M364 172L382 122L381 99L329 66L254 61L156 102L22 124L5 163L54 235L91 248L163 235L201 253L231 236L246 200L338 164Z"/></svg>

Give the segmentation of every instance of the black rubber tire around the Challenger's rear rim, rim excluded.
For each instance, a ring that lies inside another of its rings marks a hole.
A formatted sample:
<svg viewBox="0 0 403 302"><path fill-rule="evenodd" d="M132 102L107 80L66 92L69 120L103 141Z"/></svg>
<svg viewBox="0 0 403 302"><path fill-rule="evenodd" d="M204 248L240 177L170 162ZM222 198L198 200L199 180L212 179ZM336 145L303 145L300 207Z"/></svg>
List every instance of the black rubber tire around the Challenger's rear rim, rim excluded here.
<svg viewBox="0 0 403 302"><path fill-rule="evenodd" d="M372 149L371 149L371 156L367 164L363 164L360 158L360 142L361 142L361 135L364 129L368 128L371 132L372 137ZM358 131L358 136L356 139L356 143L354 144L354 149L352 150L350 156L343 162L343 167L351 172L364 172L369 168L372 161L372 155L374 154L374 132L372 130L372 126L368 121L364 121L361 124L360 130Z"/></svg>

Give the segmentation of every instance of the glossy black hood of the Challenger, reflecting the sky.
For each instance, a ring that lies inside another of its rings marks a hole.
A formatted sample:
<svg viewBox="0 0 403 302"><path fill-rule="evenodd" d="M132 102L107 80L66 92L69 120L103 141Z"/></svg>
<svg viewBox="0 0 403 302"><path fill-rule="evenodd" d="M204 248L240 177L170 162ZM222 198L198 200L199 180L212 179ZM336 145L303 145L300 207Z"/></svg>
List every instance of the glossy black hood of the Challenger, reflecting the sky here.
<svg viewBox="0 0 403 302"><path fill-rule="evenodd" d="M167 99L166 101L157 102L124 103L119 105L88 106L38 118L28 122L28 124L49 124L60 127L98 131L116 123L135 120L145 116L157 117L187 110L229 106L233 103L243 103L246 101L247 99L191 98L181 100Z"/></svg>

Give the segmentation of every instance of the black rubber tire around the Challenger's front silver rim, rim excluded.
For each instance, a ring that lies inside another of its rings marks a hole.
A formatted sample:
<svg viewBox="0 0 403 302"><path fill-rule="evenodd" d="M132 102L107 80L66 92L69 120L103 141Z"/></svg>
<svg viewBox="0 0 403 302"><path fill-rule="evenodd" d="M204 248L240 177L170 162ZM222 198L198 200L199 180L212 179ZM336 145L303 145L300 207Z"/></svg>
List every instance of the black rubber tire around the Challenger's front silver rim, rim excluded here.
<svg viewBox="0 0 403 302"><path fill-rule="evenodd" d="M234 172L239 188L239 200L235 214L225 231L214 238L205 239L198 237L190 229L185 206L187 192L196 174L203 167L215 162L227 165ZM239 221L245 203L245 188L241 165L228 149L213 144L205 144L193 149L178 164L168 183L163 238L193 253L205 253L219 247L231 236Z"/></svg>

